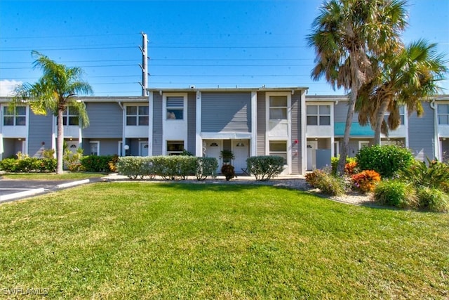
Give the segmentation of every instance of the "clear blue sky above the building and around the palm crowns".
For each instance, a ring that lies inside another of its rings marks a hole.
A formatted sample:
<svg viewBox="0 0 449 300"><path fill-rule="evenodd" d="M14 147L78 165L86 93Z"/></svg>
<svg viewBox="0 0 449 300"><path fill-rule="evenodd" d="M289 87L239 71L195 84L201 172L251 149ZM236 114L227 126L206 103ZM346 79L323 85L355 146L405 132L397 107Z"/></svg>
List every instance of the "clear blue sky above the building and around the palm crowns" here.
<svg viewBox="0 0 449 300"><path fill-rule="evenodd" d="M321 0L0 1L0 96L34 83L31 51L85 71L95 96L140 96L141 32L148 35L149 87L307 86L307 46ZM449 60L449 1L408 0L406 42L438 43ZM448 63L449 67L449 63ZM441 84L449 93L449 81Z"/></svg>

